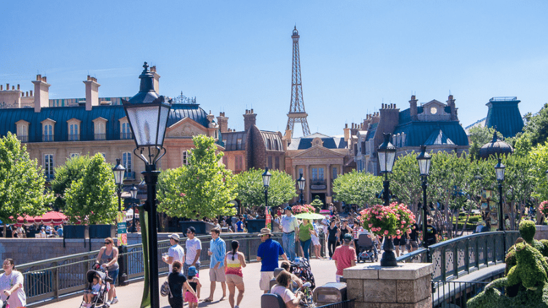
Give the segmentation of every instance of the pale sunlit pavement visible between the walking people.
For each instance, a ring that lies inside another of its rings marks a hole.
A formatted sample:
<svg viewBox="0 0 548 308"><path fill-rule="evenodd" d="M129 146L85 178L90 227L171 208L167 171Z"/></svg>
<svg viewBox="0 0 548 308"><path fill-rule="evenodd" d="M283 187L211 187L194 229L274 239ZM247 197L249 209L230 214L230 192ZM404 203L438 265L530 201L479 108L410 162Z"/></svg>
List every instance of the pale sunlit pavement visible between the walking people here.
<svg viewBox="0 0 548 308"><path fill-rule="evenodd" d="M329 259L312 259L310 260L310 267L312 268L312 273L314 274L314 279L316 279L316 286L323 285L328 282L335 281L335 261ZM247 267L243 268L243 278L245 282L245 294L242 300L240 307L260 307L260 297L263 293L259 288L259 277L260 277L260 263L253 262L247 264ZM201 289L200 298L207 298L210 294L210 281L209 281L209 269L203 268L200 271L200 282L203 285ZM160 285L164 282L165 277L160 277ZM119 303L112 305L112 308L125 308L125 307L139 307L140 300L142 296L142 285L143 282L139 281L136 283L130 283L124 287L116 287L116 293L120 300ZM237 296L236 291L236 296ZM228 298L225 300L219 301L223 291L221 290L221 283L217 283L217 287L214 294L214 301L211 303L204 303L203 301L199 302L199 307L230 307L228 303ZM228 295L228 290L227 290ZM58 307L79 307L82 303L82 296L77 296L62 300L60 302L49 303L48 305L41 305L35 307L44 307L44 308L58 308ZM169 303L167 297L160 296L160 307L169 308ZM188 306L186 306L188 307Z"/></svg>

